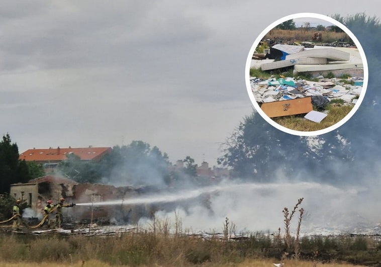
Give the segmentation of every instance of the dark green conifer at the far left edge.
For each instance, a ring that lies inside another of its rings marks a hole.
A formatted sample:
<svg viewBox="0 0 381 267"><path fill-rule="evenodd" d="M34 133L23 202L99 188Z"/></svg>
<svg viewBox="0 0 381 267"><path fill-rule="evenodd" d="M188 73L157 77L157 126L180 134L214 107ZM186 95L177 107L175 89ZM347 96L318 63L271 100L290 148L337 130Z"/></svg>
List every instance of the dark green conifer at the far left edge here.
<svg viewBox="0 0 381 267"><path fill-rule="evenodd" d="M28 181L28 166L19 160L19 148L7 133L0 142L0 193L9 193L10 185Z"/></svg>

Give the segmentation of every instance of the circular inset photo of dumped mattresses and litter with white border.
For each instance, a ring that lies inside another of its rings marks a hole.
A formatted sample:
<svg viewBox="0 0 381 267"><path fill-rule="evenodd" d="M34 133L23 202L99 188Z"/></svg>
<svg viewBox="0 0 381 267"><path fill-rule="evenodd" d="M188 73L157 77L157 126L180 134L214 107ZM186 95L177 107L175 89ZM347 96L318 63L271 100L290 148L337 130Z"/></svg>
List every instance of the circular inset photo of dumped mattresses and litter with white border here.
<svg viewBox="0 0 381 267"><path fill-rule="evenodd" d="M352 117L364 98L365 53L348 28L315 13L284 17L253 43L245 69L256 111L284 132L312 136Z"/></svg>

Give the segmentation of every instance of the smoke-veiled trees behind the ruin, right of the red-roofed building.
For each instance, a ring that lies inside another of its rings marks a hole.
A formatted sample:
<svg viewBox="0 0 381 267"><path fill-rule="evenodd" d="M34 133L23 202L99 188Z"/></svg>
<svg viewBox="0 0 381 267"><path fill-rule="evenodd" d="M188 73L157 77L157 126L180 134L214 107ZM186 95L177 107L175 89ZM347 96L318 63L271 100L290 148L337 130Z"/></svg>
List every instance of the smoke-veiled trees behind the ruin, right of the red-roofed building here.
<svg viewBox="0 0 381 267"><path fill-rule="evenodd" d="M132 141L127 146L114 146L99 161L84 161L75 154L67 155L57 167L65 176L79 183L106 183L118 186L169 184L169 160L156 146Z"/></svg>

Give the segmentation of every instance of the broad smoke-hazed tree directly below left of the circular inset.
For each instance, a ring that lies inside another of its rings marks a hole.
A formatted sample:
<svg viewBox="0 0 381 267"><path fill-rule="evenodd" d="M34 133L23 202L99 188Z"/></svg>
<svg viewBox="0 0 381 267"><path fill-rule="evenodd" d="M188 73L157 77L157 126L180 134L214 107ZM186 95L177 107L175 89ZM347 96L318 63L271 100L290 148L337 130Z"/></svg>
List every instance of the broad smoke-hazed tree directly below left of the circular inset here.
<svg viewBox="0 0 381 267"><path fill-rule="evenodd" d="M300 145L299 139L276 130L253 112L227 138L222 146L224 155L217 162L231 167L234 177L269 182L275 178L275 170L293 171L295 166L287 168L285 161L294 157L293 152Z"/></svg>

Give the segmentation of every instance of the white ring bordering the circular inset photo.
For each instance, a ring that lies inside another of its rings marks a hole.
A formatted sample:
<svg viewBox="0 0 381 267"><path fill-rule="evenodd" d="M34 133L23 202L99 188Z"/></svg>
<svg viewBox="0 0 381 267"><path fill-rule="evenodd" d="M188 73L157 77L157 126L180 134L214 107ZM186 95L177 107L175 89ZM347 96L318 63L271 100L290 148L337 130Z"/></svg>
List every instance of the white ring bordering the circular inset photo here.
<svg viewBox="0 0 381 267"><path fill-rule="evenodd" d="M346 34L349 35L350 38L352 38L353 42L355 43L355 45L356 45L356 47L357 47L357 49L358 49L358 51L360 52L360 55L361 55L361 59L362 59L362 63L363 63L363 68L364 68L364 79L363 79L363 85L362 85L361 94L360 94L360 96L359 96L359 98L357 100L357 103L354 105L353 109L341 121L339 121L338 123L336 123L336 124L334 124L334 125L332 125L330 127L322 129L322 130L311 131L311 132L302 132L302 131L291 130L289 128L286 128L284 126L281 126L281 125L277 124L276 122L271 120L262 111L262 109L259 107L258 103L255 101L254 95L253 95L253 93L251 91L250 65L251 65L251 59L252 59L252 55L254 54L255 48L257 47L259 42L263 39L263 37L271 29L273 29L278 24L283 23L283 22L288 21L288 20L297 19L297 18L309 18L309 17L328 21L328 22L330 22L330 23L340 27ZM257 39L255 39L253 45L251 46L251 49L249 51L249 54L248 54L247 60L246 60L245 81L246 81L247 93L249 94L249 98L251 100L251 103L254 105L254 108L256 109L256 111L269 124L271 124L272 126L277 128L278 130L281 130L281 131L289 133L289 134L300 135L300 136L314 136L314 135L325 134L325 133L328 133L330 131L335 130L336 128L338 128L341 125L343 125L344 123L346 123L353 116L353 114L357 111L357 109L360 106L362 100L364 99L365 92L366 92L366 87L368 85L368 63L366 61L365 53L364 53L364 50L362 49L362 46L361 46L360 42L357 40L356 36L354 36L354 34L347 27L345 27L342 23L340 23L340 22L338 22L338 21L336 21L336 20L334 20L334 19L332 19L330 17L321 15L321 14L316 14L316 13L297 13L297 14L292 14L292 15L289 15L289 16L285 16L285 17L283 17L283 18L281 18L281 19L271 23L266 29L264 29L261 32L261 34L257 37Z"/></svg>

